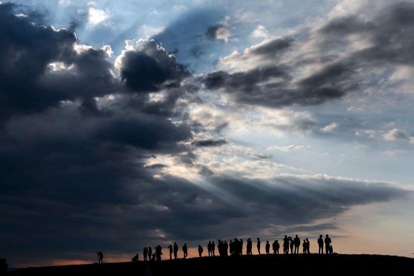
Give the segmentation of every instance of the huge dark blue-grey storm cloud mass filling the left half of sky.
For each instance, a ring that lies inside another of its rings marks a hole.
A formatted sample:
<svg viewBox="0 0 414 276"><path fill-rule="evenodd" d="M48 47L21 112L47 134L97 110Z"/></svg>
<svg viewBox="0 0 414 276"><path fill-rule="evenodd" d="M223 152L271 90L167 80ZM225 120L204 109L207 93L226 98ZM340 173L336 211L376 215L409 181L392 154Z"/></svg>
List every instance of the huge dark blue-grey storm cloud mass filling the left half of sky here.
<svg viewBox="0 0 414 276"><path fill-rule="evenodd" d="M32 24L15 8L0 5L0 216L8 260L120 249L131 232L144 235L165 219L180 229L194 214L223 208L239 215L220 204L204 210L198 202L210 195L202 189L156 179L165 164L146 167L162 155L189 165L197 158L184 145L192 133L179 101L191 100L197 87L180 85L189 72L173 56L142 41L115 68L108 46L77 46L72 31ZM161 77L147 74L126 89L116 69L128 72L125 80L148 72ZM152 87L163 88L159 100L141 93ZM194 217L194 227L204 223Z"/></svg>

